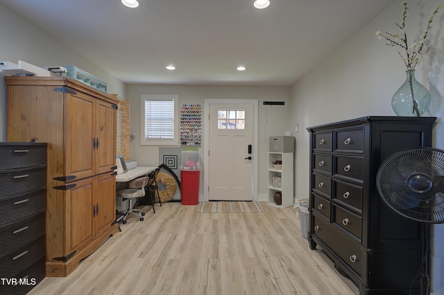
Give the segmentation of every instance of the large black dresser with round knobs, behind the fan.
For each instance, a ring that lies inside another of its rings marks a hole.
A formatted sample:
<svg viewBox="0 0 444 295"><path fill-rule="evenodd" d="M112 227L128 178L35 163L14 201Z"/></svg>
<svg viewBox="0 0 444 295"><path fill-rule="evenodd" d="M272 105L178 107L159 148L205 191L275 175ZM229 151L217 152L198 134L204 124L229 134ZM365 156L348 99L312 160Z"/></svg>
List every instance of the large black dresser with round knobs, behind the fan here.
<svg viewBox="0 0 444 295"><path fill-rule="evenodd" d="M311 136L309 245L319 245L361 294L419 294L422 226L377 193L395 152L432 146L436 118L368 116L307 128Z"/></svg>

